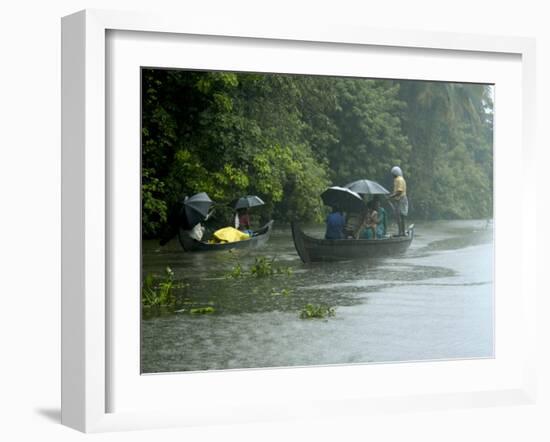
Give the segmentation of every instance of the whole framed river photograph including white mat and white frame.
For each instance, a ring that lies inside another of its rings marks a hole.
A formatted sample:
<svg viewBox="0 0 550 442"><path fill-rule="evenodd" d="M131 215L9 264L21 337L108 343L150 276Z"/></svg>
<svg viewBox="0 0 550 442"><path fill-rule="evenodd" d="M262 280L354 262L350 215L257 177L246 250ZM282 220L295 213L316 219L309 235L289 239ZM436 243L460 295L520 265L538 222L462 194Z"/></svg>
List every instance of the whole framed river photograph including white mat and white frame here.
<svg viewBox="0 0 550 442"><path fill-rule="evenodd" d="M62 26L64 424L532 403L532 40Z"/></svg>

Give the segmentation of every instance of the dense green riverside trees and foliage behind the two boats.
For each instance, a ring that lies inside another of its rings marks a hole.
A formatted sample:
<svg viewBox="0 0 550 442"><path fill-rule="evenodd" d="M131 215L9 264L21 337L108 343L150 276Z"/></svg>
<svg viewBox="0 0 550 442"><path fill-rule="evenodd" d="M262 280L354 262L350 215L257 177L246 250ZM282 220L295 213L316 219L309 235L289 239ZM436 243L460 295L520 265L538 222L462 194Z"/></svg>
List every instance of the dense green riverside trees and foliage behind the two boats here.
<svg viewBox="0 0 550 442"><path fill-rule="evenodd" d="M146 237L201 191L222 204L258 195L264 219L320 220L326 186L368 178L391 189L394 165L411 216L491 216L488 86L144 69L142 90ZM231 210L217 213L228 222Z"/></svg>

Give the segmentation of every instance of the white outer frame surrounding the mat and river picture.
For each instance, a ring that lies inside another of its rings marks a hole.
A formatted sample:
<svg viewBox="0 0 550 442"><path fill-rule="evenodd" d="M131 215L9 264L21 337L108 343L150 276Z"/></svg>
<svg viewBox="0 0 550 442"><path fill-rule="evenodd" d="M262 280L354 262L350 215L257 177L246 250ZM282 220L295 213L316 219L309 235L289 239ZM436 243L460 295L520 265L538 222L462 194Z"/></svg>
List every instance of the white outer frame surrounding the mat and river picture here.
<svg viewBox="0 0 550 442"><path fill-rule="evenodd" d="M521 278L515 280L520 289L523 352L518 356L521 376L514 372L500 386L474 389L466 385L462 391L445 391L444 384L434 391L414 393L398 385L392 391L369 395L361 390L355 395L333 391L326 398L307 401L284 399L271 405L258 403L254 396L246 398L216 398L229 402L230 414L205 408L191 412L185 407L159 410L113 411L109 406L111 364L114 360L109 344L109 327L113 322L107 288L109 287L109 244L113 232L109 228L112 199L109 195L109 154L106 121L109 63L107 34L109 32L156 33L161 36L212 36L220 39L248 39L285 42L285 44L337 44L341 47L376 47L431 51L437 53L470 53L483 58L484 54L516 57L521 64L521 130L519 154L522 176L533 167L534 109L535 109L535 45L532 39L491 37L451 33L387 31L357 29L343 26L294 27L266 23L217 23L197 17L185 20L150 14L130 14L112 11L87 10L65 17L62 21L62 423L85 432L121 429L158 428L168 426L206 425L215 418L218 422L254 422L285 418L329 415L360 415L373 410L387 412L426 408L453 408L500 404L533 403L535 380L535 265L527 265L536 256L534 238L523 235L519 254ZM145 34L143 34L145 35ZM152 34L151 34L152 35ZM112 54L111 54L112 55ZM498 104L497 104L498 106ZM498 155L497 155L498 156ZM498 161L498 159L497 159ZM499 192L496 187L496 192ZM527 207L536 207L536 193L518 190ZM533 217L533 210L530 212ZM497 218L498 219L498 218ZM526 220L523 220L526 221ZM497 221L499 222L499 221ZM504 224L502 224L504 226ZM504 226L505 227L505 226ZM496 243L497 253L499 242ZM509 254L509 252L508 252ZM509 257L517 265L518 256ZM504 265L504 264L503 264ZM497 287L504 287L498 284ZM499 318L497 316L496 320ZM499 355L495 358L497 361ZM450 371L464 370L475 376L478 368L464 361ZM517 367L516 367L517 368ZM230 374L232 381L265 382L284 377L303 379L304 369L238 371ZM320 367L323 376L357 376L362 367ZM417 367L407 364L396 368L376 366L371 372L392 372ZM473 371L471 371L473 370ZM309 372L311 374L311 372ZM519 373L519 372L518 372ZM490 370L486 373L491 374ZM197 375L200 376L200 375ZM218 379L221 379L219 375ZM507 375L508 376L508 375ZM512 379L513 377L513 379ZM212 379L212 377L210 377ZM504 379L504 378L503 378ZM508 382L508 380L510 382ZM163 383L170 386L170 376ZM246 395L245 395L246 396Z"/></svg>

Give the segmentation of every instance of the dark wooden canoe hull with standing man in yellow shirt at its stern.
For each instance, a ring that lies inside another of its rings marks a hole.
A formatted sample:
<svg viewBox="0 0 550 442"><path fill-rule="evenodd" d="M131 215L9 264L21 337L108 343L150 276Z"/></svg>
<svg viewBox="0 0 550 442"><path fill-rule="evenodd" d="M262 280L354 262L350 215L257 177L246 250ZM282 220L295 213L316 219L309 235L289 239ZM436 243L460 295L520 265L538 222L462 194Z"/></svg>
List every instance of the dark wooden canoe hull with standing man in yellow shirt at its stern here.
<svg viewBox="0 0 550 442"><path fill-rule="evenodd" d="M306 235L296 223L291 227L294 247L305 263L398 255L409 248L414 238L414 225L406 236L384 239L320 239Z"/></svg>

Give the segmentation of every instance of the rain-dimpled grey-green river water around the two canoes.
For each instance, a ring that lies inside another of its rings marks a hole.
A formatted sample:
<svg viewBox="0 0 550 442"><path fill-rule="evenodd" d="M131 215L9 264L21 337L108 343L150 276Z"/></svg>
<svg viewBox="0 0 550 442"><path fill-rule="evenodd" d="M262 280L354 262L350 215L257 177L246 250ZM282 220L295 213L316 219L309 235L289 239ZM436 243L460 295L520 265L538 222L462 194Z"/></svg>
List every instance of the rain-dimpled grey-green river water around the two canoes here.
<svg viewBox="0 0 550 442"><path fill-rule="evenodd" d="M187 286L176 291L178 313L142 319L141 371L493 357L493 250L485 220L417 223L404 255L375 262L303 264L288 226L237 256L144 241L143 271L170 266ZM227 276L237 260L247 269L260 256L290 275ZM308 303L335 315L301 319ZM205 306L214 312L190 314Z"/></svg>

